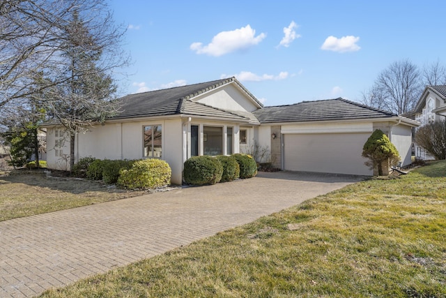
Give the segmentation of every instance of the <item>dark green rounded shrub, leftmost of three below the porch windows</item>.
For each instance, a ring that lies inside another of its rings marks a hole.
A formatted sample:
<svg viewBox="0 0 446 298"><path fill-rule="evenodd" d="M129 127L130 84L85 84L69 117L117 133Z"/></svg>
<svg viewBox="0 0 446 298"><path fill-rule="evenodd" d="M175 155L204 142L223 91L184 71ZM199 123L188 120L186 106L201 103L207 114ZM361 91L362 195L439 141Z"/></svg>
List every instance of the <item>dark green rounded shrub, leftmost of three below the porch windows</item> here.
<svg viewBox="0 0 446 298"><path fill-rule="evenodd" d="M183 179L187 184L216 184L222 174L222 163L211 156L192 156L184 162Z"/></svg>

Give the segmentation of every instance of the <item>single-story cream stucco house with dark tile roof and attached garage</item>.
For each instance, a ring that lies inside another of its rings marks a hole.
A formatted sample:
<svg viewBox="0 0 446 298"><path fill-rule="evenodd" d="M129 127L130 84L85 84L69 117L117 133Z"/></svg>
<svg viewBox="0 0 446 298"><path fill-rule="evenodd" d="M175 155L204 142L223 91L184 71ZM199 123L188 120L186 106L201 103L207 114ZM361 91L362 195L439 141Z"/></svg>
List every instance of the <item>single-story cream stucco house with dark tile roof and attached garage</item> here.
<svg viewBox="0 0 446 298"><path fill-rule="evenodd" d="M182 183L191 156L229 155L268 149L283 170L371 175L362 147L380 128L410 163L411 128L416 121L342 98L263 107L234 77L184 87L131 94L121 112L105 124L79 133L75 161L161 158ZM68 170L69 137L47 125L47 166Z"/></svg>

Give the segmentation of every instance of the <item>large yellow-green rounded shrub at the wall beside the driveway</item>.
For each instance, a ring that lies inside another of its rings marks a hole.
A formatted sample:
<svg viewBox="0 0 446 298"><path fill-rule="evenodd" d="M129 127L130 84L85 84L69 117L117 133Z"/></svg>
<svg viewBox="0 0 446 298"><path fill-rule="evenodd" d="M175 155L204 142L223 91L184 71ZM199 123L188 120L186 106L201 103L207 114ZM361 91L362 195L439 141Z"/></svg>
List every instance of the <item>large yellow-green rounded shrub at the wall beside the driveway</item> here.
<svg viewBox="0 0 446 298"><path fill-rule="evenodd" d="M118 186L123 188L153 189L170 184L171 168L160 159L135 161L130 170L121 170Z"/></svg>

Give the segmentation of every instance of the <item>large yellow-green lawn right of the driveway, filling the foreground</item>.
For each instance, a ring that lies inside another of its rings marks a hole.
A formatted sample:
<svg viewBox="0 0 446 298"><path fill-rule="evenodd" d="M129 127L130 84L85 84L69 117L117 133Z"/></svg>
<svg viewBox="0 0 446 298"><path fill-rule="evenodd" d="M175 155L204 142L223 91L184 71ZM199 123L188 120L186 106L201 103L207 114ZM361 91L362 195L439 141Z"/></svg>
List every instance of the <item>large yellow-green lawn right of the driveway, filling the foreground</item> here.
<svg viewBox="0 0 446 298"><path fill-rule="evenodd" d="M446 162L347 186L42 297L446 297Z"/></svg>

